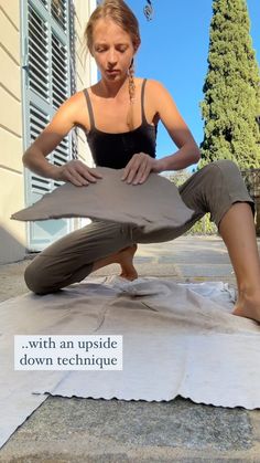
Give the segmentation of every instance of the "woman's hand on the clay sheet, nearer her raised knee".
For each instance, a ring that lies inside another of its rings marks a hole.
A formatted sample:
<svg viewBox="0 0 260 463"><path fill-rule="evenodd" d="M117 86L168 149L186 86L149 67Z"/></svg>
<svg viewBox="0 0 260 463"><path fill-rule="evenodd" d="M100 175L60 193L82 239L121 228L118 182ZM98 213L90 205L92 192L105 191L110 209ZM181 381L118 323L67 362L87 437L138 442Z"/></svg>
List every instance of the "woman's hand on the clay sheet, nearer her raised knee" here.
<svg viewBox="0 0 260 463"><path fill-rule="evenodd" d="M121 180L132 185L143 183L148 179L151 171L161 171L158 160L149 155L145 155L144 152L139 152L133 155L133 157L128 162Z"/></svg>

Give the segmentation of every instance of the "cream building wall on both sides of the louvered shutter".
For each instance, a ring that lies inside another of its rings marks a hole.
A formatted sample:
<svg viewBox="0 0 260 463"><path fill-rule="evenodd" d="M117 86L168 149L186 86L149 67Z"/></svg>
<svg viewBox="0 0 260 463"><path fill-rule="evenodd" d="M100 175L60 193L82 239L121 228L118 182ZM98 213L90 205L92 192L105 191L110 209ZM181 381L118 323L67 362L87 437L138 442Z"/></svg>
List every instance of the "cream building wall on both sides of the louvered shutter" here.
<svg viewBox="0 0 260 463"><path fill-rule="evenodd" d="M26 0L0 0L0 264L22 260L26 253L26 228L10 215L24 208L22 165L22 73L20 8ZM97 70L90 56L86 67L82 45L84 28L96 0L75 0L77 91L96 82ZM83 131L79 131L79 156L91 164ZM80 221L78 222L80 224Z"/></svg>

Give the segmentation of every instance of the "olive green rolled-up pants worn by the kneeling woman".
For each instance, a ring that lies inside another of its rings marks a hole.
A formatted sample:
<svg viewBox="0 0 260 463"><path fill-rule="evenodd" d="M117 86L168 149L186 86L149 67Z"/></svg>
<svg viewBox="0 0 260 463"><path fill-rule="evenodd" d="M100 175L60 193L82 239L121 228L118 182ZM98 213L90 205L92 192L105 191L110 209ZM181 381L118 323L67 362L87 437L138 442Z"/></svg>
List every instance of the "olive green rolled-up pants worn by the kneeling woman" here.
<svg viewBox="0 0 260 463"><path fill-rule="evenodd" d="M136 225L94 221L41 252L25 270L28 287L36 294L47 294L80 282L100 259L133 243L174 240L191 229L206 212L210 212L210 220L219 227L224 214L238 201L250 203L254 212L253 201L240 171L229 160L207 165L189 177L178 190L185 204L194 210L191 220L184 225L145 233Z"/></svg>

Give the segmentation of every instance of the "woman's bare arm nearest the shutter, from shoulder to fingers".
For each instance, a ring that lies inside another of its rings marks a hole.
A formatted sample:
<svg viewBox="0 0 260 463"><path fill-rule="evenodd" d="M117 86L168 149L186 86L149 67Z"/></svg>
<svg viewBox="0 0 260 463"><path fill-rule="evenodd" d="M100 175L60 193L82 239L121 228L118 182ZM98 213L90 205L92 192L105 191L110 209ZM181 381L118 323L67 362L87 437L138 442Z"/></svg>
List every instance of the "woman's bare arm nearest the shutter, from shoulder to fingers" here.
<svg viewBox="0 0 260 463"><path fill-rule="evenodd" d="M46 159L77 123L79 95L66 99L57 109L51 123L44 128L23 155L23 164L33 172L54 180L71 181L79 187L101 178L80 160L71 160L64 166L54 166Z"/></svg>

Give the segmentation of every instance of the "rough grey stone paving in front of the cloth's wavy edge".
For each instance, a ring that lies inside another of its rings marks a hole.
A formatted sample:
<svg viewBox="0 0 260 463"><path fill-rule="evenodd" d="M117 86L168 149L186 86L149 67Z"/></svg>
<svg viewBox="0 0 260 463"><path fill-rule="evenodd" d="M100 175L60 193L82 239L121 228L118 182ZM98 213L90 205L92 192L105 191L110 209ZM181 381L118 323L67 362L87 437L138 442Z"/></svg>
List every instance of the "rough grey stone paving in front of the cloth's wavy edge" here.
<svg viewBox="0 0 260 463"><path fill-rule="evenodd" d="M243 462L260 455L252 421L241 408L182 398L144 402L54 397L15 432L0 461L45 462L52 456L57 462L166 462L183 455L191 462L205 456L210 462L223 461L220 456Z"/></svg>

